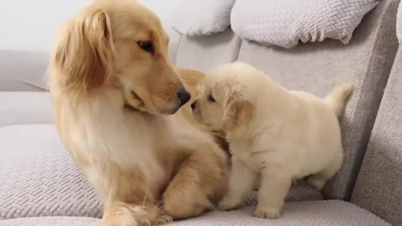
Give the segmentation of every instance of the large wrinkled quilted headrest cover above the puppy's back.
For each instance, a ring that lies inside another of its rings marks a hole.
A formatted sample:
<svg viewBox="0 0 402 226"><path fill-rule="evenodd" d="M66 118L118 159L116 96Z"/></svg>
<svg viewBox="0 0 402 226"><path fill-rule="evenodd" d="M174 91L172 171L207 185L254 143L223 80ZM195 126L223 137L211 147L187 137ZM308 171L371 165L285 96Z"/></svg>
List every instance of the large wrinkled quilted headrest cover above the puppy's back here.
<svg viewBox="0 0 402 226"><path fill-rule="evenodd" d="M339 39L349 43L363 16L379 0L237 0L230 23L234 33L263 45L291 48L299 40Z"/></svg>

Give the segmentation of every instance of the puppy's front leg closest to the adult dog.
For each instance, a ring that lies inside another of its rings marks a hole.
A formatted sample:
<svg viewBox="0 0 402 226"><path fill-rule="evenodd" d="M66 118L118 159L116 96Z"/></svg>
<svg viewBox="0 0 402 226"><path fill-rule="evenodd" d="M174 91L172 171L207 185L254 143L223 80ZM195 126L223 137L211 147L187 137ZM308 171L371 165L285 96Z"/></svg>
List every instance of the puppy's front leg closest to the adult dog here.
<svg viewBox="0 0 402 226"><path fill-rule="evenodd" d="M232 157L232 171L229 178L228 193L219 203L219 210L232 210L236 208L248 191L254 188L258 174L251 171L242 161Z"/></svg>

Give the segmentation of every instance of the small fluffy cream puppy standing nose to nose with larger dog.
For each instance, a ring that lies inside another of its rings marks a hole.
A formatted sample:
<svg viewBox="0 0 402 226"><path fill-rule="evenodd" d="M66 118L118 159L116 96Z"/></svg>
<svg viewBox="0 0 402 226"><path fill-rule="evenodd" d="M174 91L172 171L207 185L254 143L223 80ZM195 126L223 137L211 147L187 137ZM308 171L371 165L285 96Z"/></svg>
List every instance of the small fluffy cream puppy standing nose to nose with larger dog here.
<svg viewBox="0 0 402 226"><path fill-rule="evenodd" d="M254 216L279 218L293 179L310 175L322 189L343 160L340 117L353 85L340 85L324 99L289 91L248 64L234 62L205 77L203 95L192 103L197 121L226 132L232 152L229 190L218 208L236 208L258 189Z"/></svg>

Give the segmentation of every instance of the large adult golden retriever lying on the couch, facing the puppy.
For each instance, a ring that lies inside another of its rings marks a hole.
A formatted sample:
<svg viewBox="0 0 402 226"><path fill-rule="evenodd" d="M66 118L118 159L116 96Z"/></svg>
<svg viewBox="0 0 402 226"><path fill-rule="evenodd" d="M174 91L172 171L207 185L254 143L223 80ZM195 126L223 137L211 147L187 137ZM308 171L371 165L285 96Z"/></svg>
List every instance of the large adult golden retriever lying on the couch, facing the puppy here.
<svg viewBox="0 0 402 226"><path fill-rule="evenodd" d="M55 125L105 203L105 226L197 216L224 195L228 159L190 108L204 75L176 70L168 41L133 0L96 0L55 38Z"/></svg>

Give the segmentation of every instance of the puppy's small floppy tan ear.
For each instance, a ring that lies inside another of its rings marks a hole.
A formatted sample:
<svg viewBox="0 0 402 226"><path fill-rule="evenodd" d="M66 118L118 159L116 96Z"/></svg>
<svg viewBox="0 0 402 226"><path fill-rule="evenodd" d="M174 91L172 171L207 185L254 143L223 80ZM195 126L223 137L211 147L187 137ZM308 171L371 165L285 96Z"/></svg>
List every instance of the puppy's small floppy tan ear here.
<svg viewBox="0 0 402 226"><path fill-rule="evenodd" d="M254 112L254 106L243 99L240 93L231 92L226 98L222 127L224 131L235 129L240 125L247 125Z"/></svg>

